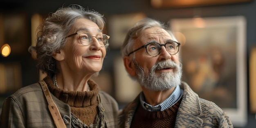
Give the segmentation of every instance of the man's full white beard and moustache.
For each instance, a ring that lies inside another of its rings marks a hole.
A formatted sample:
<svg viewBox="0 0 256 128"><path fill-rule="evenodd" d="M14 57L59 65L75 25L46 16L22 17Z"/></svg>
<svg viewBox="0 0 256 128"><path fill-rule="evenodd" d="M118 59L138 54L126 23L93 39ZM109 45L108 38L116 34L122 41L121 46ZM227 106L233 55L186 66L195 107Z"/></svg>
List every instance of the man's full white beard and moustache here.
<svg viewBox="0 0 256 128"><path fill-rule="evenodd" d="M148 75L145 75L145 70L134 61L134 64L137 68L137 81L141 86L144 86L148 90L153 91L162 91L175 88L181 83L182 77L182 64L177 65L171 60L161 61L153 65ZM171 67L174 69L174 72L165 72L157 76L155 70L160 70L164 68Z"/></svg>

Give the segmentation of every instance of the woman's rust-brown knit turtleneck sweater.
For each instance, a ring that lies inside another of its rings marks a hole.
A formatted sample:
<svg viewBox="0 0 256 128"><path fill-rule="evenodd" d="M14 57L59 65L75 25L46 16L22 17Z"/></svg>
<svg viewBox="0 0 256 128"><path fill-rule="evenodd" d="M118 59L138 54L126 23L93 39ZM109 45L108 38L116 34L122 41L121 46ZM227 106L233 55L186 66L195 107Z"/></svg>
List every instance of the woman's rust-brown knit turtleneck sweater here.
<svg viewBox="0 0 256 128"><path fill-rule="evenodd" d="M71 113L78 117L84 124L89 126L94 124L95 117L97 116L98 101L97 95L99 93L99 86L92 80L88 81L90 86L89 92L79 91L64 91L54 86L53 78L50 76L45 77L49 91L60 101L67 103L70 106Z"/></svg>

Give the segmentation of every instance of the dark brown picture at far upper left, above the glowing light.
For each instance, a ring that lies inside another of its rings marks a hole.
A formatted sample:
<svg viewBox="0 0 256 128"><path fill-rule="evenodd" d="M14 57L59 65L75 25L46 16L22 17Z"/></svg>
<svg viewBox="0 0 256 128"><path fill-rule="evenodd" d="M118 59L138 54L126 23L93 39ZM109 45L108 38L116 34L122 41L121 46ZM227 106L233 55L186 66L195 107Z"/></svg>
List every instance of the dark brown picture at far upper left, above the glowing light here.
<svg viewBox="0 0 256 128"><path fill-rule="evenodd" d="M0 37L2 37L2 43L8 43L11 47L10 55L19 55L27 52L29 47L27 22L26 13L0 14Z"/></svg>

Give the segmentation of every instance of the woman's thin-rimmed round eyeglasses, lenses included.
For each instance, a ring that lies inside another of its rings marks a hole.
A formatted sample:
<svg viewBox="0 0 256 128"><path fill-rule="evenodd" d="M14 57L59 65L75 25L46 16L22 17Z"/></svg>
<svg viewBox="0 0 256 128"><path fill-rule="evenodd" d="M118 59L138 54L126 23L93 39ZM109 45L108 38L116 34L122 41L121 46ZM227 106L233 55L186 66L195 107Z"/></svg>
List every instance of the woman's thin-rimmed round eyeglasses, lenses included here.
<svg viewBox="0 0 256 128"><path fill-rule="evenodd" d="M95 38L97 38L101 47L105 47L108 44L108 39L110 38L110 36L108 36L106 34L99 34L97 36L92 36L89 32L77 32L77 33L71 34L65 38L74 36L76 34L79 35L80 43L85 46L90 45L90 43L92 42L92 37L95 37Z"/></svg>

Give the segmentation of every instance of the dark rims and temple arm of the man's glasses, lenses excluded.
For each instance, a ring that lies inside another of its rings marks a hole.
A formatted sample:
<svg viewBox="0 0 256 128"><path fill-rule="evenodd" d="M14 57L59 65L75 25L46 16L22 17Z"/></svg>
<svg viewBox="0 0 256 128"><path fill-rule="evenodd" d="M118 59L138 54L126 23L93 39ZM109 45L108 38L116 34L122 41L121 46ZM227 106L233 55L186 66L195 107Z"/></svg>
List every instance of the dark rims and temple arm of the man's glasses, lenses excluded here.
<svg viewBox="0 0 256 128"><path fill-rule="evenodd" d="M175 42L175 43L177 43L178 44L178 50L177 50L177 52L175 53L175 54L177 54L178 52L179 52L179 50L180 50L180 45L181 45L181 43L179 43L179 42L176 42L176 41L168 41L167 43L169 43L169 42ZM162 46L164 46L164 48L166 49L166 44L167 43L164 43L164 44L160 44L160 43L158 43L158 42L156 42L156 41L151 41L151 42L149 42L149 43L147 43L146 45L143 45L143 46L141 46L141 47L139 47L139 48L137 48L137 49L135 49L135 50L133 50L132 52L130 52L127 56L130 56L130 54L132 54L132 53L134 53L134 52L137 52L139 49L142 49L143 47L145 47L145 49L146 49L146 52L148 53L148 50L147 50L147 47L148 47L148 45L150 45L150 44L152 44L152 43L157 43L157 44L159 44L160 45L160 47L162 47ZM159 53L157 54L157 55L159 55L161 53L161 49L160 49L160 51L159 51ZM169 53L169 52L168 52ZM170 54L170 53L169 53ZM175 55L175 54L170 54L170 55ZM150 54L148 54L149 56L152 56L152 55L150 55ZM155 55L155 56L157 56L157 55Z"/></svg>

